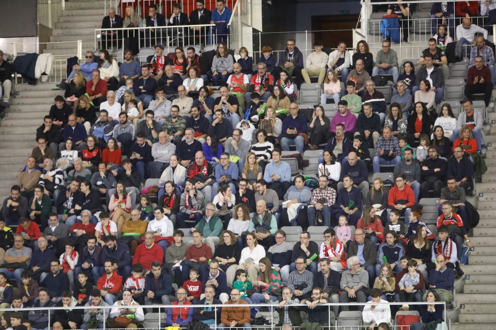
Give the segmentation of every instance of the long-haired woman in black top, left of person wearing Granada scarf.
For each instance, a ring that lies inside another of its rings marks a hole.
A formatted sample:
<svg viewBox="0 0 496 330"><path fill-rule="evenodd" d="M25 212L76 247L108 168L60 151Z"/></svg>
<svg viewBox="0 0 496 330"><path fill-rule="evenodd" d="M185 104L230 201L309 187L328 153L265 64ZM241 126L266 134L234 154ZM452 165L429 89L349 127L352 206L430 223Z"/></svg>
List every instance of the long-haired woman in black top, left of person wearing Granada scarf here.
<svg viewBox="0 0 496 330"><path fill-rule="evenodd" d="M417 270L424 276L424 281L429 282L427 264L431 263L432 250L431 242L427 238L427 226L419 224L416 230L415 237L408 241L405 255L417 261Z"/></svg>

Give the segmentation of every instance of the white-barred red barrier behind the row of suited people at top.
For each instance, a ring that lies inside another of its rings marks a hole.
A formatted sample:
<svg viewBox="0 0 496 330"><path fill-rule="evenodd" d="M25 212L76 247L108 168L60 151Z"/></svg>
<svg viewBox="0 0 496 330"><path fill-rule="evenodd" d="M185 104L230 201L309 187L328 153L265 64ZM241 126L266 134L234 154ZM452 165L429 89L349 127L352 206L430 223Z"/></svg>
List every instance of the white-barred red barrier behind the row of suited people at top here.
<svg viewBox="0 0 496 330"><path fill-rule="evenodd" d="M226 0L226 6L233 9L236 0ZM191 11L196 10L195 1L190 0L105 0L104 8L107 10L109 7L114 7L117 9L117 14L123 16L124 10L127 6L132 6L134 12L138 14L141 18L148 15L148 6L150 4L157 5L157 12L169 17L172 13L172 5L175 3L180 3L182 7L182 12L186 13L189 17ZM205 0L205 8L212 11L216 8L216 0Z"/></svg>

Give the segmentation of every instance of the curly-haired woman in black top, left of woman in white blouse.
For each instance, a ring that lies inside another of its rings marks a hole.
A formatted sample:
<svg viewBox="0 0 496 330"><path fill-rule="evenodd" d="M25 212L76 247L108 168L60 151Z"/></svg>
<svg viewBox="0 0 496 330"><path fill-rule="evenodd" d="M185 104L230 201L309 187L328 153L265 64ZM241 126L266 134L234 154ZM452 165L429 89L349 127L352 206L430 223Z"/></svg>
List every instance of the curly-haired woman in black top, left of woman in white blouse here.
<svg viewBox="0 0 496 330"><path fill-rule="evenodd" d="M248 221L246 221L248 222ZM215 248L212 259L219 262L219 268L226 273L227 283L232 285L238 268L241 250L236 244L236 235L233 231L227 229L220 234L220 244Z"/></svg>

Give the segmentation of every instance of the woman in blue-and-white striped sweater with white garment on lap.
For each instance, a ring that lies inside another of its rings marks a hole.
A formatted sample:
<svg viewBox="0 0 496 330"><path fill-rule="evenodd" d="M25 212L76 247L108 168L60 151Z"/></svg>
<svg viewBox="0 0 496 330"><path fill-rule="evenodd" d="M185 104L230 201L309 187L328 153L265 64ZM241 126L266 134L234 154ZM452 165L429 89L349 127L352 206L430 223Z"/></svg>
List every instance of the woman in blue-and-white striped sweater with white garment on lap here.
<svg viewBox="0 0 496 330"><path fill-rule="evenodd" d="M279 226L292 226L296 223L301 226L303 231L306 231L309 226L307 217L307 207L311 199L311 190L305 185L305 177L297 175L295 177L295 185L289 187L284 194L284 203L281 215L279 216ZM299 206L293 204L300 204ZM293 206L292 206L293 205ZM291 208L291 212L288 209ZM291 215L291 219L289 218Z"/></svg>

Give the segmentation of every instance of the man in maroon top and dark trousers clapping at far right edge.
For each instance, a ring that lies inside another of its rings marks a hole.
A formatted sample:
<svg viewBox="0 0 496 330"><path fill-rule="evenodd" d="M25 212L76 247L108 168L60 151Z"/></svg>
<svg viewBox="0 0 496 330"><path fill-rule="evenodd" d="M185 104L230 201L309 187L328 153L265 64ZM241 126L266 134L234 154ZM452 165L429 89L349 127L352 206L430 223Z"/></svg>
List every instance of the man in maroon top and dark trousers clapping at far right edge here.
<svg viewBox="0 0 496 330"><path fill-rule="evenodd" d="M491 80L493 77L493 72L491 72L487 65L484 65L484 57L481 55L475 56L474 65L467 72L467 85L465 86L467 99L473 100L474 94L484 93L484 102L486 103L486 107L488 107L491 100L491 93L493 92L494 84Z"/></svg>

